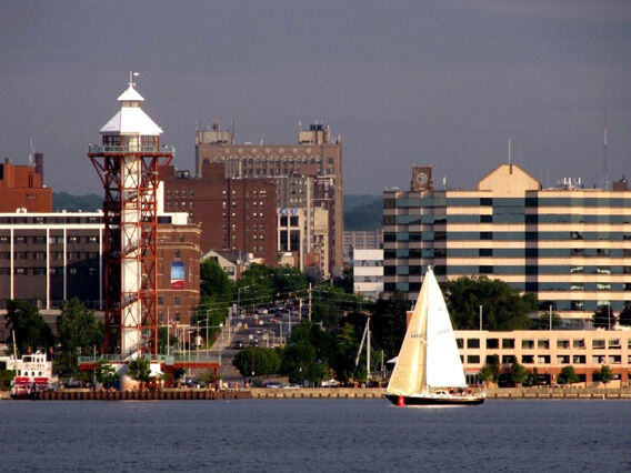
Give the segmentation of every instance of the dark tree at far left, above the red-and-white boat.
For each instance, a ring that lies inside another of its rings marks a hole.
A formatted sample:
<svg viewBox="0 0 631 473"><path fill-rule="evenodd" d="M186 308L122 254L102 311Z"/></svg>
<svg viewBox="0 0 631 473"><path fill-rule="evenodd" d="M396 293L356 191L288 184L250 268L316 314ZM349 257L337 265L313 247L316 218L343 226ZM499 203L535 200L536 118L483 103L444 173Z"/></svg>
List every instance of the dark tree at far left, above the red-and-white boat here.
<svg viewBox="0 0 631 473"><path fill-rule="evenodd" d="M38 349L48 351L48 348L53 345L54 336L50 326L44 322L39 310L27 301L8 300L4 319L9 330L16 332L19 353ZM7 342L13 344L11 335Z"/></svg>

